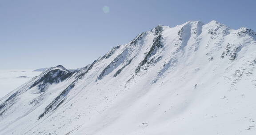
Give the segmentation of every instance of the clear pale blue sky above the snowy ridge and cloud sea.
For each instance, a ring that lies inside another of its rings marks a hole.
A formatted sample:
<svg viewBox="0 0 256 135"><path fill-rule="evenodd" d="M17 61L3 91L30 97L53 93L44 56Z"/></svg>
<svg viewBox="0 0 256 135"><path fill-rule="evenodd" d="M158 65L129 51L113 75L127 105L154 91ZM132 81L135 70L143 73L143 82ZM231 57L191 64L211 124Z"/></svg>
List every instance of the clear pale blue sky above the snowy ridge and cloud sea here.
<svg viewBox="0 0 256 135"><path fill-rule="evenodd" d="M256 30L256 0L0 0L0 69L84 67L158 24Z"/></svg>

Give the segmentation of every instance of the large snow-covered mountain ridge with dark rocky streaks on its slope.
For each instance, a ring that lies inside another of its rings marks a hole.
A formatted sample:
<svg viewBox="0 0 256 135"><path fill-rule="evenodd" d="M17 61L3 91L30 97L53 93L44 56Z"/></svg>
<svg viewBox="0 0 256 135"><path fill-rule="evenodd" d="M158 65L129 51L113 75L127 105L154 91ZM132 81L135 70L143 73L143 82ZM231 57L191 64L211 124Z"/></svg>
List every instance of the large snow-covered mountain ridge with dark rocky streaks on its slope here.
<svg viewBox="0 0 256 135"><path fill-rule="evenodd" d="M255 135L256 33L159 25L0 99L0 135Z"/></svg>

